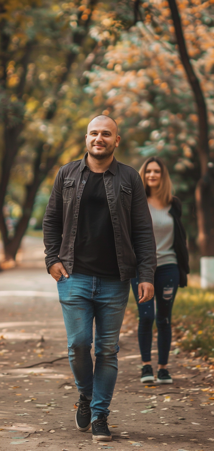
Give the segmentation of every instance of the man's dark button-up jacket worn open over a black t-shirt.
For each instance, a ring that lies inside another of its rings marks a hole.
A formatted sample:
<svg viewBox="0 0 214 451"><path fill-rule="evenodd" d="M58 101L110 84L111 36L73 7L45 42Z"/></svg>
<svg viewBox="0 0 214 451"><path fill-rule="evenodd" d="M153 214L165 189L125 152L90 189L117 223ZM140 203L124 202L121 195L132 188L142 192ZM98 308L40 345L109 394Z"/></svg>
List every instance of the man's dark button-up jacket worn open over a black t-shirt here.
<svg viewBox="0 0 214 451"><path fill-rule="evenodd" d="M68 273L72 273L79 205L90 173L86 157L87 154L82 160L62 166L56 176L43 221L47 270L61 261ZM136 277L138 267L139 282L153 284L156 245L141 177L114 158L103 178L121 281Z"/></svg>

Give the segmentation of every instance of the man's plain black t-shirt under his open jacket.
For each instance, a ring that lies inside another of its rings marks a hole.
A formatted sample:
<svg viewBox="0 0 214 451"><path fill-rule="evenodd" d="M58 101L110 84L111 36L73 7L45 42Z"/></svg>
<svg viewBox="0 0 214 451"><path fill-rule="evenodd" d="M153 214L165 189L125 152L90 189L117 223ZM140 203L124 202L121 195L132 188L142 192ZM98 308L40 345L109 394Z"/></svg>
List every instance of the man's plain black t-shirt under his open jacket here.
<svg viewBox="0 0 214 451"><path fill-rule="evenodd" d="M120 278L103 173L90 171L80 201L73 272Z"/></svg>

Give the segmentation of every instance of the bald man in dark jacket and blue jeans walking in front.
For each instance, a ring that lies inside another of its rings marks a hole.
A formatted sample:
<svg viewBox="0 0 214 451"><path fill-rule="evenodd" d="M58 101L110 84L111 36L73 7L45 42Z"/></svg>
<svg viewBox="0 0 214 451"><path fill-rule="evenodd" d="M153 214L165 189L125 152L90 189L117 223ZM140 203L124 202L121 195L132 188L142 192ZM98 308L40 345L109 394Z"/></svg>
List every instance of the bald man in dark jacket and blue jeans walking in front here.
<svg viewBox="0 0 214 451"><path fill-rule="evenodd" d="M120 137L105 115L91 120L88 152L62 166L43 222L46 266L57 281L68 358L80 393L76 424L111 440L109 404L117 378L119 331L139 271L139 302L154 295L156 246L141 177L114 158ZM93 373L91 343L96 322Z"/></svg>

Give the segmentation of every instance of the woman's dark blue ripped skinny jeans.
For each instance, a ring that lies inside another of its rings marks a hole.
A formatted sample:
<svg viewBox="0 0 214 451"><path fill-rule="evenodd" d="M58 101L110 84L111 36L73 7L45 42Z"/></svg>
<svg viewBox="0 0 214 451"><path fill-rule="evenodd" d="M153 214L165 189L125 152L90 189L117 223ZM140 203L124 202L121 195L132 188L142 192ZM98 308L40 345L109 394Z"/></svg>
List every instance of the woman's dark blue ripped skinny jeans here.
<svg viewBox="0 0 214 451"><path fill-rule="evenodd" d="M158 329L158 363L168 363L172 338L171 314L179 279L178 265L170 263L157 267L154 279L156 314L154 297L144 304L138 303L138 275L136 279L131 280L139 311L138 341L143 362L151 360L152 326L155 319Z"/></svg>

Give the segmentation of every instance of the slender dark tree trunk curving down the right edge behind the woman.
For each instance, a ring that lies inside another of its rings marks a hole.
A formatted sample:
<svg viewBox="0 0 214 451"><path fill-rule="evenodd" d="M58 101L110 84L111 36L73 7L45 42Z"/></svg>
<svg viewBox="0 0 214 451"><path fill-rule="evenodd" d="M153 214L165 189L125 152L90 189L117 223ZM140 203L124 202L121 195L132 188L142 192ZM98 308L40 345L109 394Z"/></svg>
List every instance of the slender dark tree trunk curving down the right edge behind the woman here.
<svg viewBox="0 0 214 451"><path fill-rule="evenodd" d="M178 13L176 0L168 0L171 9L175 34L182 64L187 74L195 96L198 121L199 143L198 155L200 161L201 178L196 186L196 212L198 223L198 244L203 256L214 256L214 171L209 161L207 108L200 83L191 65L187 53L186 43L182 32L181 18ZM211 166L209 168L209 166Z"/></svg>

